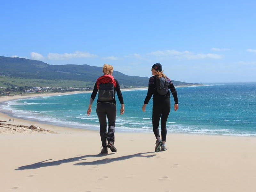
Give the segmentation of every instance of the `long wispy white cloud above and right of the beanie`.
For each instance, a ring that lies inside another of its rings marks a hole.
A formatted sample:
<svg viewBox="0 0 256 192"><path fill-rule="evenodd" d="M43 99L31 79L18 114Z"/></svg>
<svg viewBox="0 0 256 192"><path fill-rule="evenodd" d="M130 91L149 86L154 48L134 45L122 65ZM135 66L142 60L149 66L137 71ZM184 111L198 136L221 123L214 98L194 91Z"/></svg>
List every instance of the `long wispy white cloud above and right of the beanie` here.
<svg viewBox="0 0 256 192"><path fill-rule="evenodd" d="M176 50L165 50L165 51L155 51L155 52L151 52L150 55L154 55L154 56L171 56L174 57L176 59L206 59L206 58L210 58L210 59L221 59L223 56L222 55L218 55L215 53L207 53L207 54L195 54L193 52L189 52L189 51L176 51Z"/></svg>

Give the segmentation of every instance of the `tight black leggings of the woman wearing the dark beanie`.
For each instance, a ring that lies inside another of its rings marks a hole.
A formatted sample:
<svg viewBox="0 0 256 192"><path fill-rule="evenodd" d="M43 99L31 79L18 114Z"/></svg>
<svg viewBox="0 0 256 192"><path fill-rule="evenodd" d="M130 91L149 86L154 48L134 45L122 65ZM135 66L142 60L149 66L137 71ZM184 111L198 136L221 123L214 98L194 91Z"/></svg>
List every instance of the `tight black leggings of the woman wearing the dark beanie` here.
<svg viewBox="0 0 256 192"><path fill-rule="evenodd" d="M171 110L170 99L165 99L161 102L153 102L153 113L152 113L152 124L153 131L156 136L156 139L160 138L159 135L159 121L161 117L161 136L162 141L166 141L166 122Z"/></svg>

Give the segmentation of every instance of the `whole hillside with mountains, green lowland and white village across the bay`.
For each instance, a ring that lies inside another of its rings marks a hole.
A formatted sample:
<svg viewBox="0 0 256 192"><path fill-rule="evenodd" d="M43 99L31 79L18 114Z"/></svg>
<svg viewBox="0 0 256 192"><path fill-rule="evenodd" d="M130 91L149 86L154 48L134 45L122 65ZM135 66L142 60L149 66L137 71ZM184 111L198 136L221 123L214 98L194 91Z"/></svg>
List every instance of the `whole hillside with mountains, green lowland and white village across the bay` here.
<svg viewBox="0 0 256 192"><path fill-rule="evenodd" d="M0 93L65 92L67 90L91 90L102 75L101 67L90 65L49 65L38 60L0 56ZM128 76L113 71L123 88L146 87L148 77ZM194 85L172 81L175 86Z"/></svg>

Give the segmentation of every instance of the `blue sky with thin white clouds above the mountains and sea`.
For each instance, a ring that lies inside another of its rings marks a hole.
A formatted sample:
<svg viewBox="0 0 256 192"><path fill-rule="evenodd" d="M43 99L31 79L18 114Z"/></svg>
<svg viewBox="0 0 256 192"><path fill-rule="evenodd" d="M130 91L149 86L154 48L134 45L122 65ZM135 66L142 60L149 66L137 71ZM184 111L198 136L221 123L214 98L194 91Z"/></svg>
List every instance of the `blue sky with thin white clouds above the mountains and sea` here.
<svg viewBox="0 0 256 192"><path fill-rule="evenodd" d="M255 1L2 1L0 56L256 82Z"/></svg>

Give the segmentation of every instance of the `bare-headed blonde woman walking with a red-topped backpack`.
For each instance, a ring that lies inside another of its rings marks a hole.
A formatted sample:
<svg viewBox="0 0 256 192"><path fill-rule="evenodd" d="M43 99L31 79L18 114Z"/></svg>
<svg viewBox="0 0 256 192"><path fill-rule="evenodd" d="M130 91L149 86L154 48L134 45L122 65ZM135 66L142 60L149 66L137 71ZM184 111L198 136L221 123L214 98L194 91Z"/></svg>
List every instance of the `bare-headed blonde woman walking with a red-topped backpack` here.
<svg viewBox="0 0 256 192"><path fill-rule="evenodd" d="M116 79L112 76L113 66L104 64L102 68L103 76L100 76L92 91L92 95L89 101L87 115L92 112L92 103L98 93L96 112L100 121L100 138L102 142L102 154L108 153L108 148L112 152L116 152L115 142L115 126L116 126L116 99L115 93L117 93L119 102L121 104L120 114L124 114L124 100L120 90L120 85ZM108 132L107 132L107 120L108 118ZM108 144L107 144L108 140Z"/></svg>

